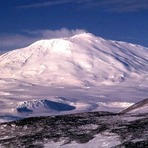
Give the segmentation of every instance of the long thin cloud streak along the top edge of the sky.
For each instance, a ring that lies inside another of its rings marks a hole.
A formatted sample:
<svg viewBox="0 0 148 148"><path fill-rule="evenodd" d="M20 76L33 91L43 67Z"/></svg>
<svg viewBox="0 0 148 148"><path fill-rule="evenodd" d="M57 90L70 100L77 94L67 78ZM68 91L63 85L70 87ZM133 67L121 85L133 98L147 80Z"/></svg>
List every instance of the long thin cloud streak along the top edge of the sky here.
<svg viewBox="0 0 148 148"><path fill-rule="evenodd" d="M54 5L63 4L79 4L79 9L93 9L101 8L104 11L112 12L136 12L140 10L148 9L147 0L54 0L46 2L32 3L28 5L22 5L18 8L41 8L41 7L51 7Z"/></svg>

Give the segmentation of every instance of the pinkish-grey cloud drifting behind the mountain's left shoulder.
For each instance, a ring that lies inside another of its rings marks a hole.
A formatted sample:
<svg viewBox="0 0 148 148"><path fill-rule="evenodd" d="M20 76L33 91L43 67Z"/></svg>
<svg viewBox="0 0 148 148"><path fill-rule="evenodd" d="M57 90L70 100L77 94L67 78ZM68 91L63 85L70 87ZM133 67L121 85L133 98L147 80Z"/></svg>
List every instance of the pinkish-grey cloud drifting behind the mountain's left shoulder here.
<svg viewBox="0 0 148 148"><path fill-rule="evenodd" d="M25 30L26 35L21 34L3 34L0 36L0 51L12 50L26 47L40 39L64 38L86 32L83 29L68 30L62 28L59 30Z"/></svg>

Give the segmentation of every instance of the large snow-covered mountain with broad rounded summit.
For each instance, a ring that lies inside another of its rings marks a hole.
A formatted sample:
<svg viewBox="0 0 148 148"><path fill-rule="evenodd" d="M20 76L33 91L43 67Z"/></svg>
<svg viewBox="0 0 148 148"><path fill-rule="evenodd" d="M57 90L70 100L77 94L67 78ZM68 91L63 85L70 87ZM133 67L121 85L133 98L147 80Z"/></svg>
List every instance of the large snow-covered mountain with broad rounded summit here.
<svg viewBox="0 0 148 148"><path fill-rule="evenodd" d="M82 33L0 56L0 78L39 84L112 85L148 80L148 48Z"/></svg>

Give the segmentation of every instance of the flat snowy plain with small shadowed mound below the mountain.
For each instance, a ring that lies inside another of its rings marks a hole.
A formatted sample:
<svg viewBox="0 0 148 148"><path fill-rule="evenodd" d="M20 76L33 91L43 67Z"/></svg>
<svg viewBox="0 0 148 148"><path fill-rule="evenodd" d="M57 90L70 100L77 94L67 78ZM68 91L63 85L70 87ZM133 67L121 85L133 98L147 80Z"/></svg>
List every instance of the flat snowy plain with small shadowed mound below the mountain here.
<svg viewBox="0 0 148 148"><path fill-rule="evenodd" d="M18 83L16 83L18 84ZM4 85L3 85L4 86ZM125 86L124 86L125 87ZM1 89L1 121L85 111L119 112L147 97L147 89L15 86ZM12 117L11 117L12 116Z"/></svg>

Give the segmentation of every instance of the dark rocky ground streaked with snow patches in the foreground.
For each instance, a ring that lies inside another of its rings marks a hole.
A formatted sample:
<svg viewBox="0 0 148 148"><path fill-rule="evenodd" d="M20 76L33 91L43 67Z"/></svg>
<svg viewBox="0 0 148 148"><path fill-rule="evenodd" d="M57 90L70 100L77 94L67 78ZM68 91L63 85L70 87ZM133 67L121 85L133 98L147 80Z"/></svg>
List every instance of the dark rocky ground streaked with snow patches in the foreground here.
<svg viewBox="0 0 148 148"><path fill-rule="evenodd" d="M148 114L89 112L1 123L0 147L43 148L49 141L61 140L65 145L72 141L87 143L103 132L119 136L121 144L114 148L148 148Z"/></svg>

